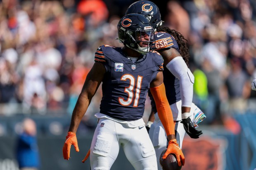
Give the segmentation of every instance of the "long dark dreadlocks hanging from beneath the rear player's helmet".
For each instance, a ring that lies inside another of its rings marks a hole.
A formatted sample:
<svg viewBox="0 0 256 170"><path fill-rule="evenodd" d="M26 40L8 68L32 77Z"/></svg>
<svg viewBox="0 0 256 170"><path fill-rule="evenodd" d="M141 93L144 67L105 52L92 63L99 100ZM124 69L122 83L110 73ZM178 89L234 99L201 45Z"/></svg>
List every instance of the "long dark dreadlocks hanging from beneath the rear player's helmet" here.
<svg viewBox="0 0 256 170"><path fill-rule="evenodd" d="M185 39L184 36L181 33L179 33L178 31L171 30L170 28L164 27L164 26L158 27L157 32L169 33L175 38L175 40L178 43L179 49L180 49L179 52L180 52L183 60L185 61L185 63L188 66L188 61L189 61L189 58L190 58L190 54L189 54L187 44L185 42L185 41L187 41L187 39Z"/></svg>

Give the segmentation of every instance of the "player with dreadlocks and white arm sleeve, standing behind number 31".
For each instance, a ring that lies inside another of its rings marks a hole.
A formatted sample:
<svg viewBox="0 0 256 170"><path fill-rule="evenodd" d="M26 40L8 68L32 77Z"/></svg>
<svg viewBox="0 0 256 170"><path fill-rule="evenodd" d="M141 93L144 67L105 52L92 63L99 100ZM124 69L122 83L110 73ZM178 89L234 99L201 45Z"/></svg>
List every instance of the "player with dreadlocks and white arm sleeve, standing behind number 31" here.
<svg viewBox="0 0 256 170"><path fill-rule="evenodd" d="M154 50L164 58L166 96L173 112L176 139L181 148L186 132L191 138L199 138L202 132L195 127L206 117L192 103L194 76L188 68L189 51L185 43L186 39L177 31L161 26L163 21L161 21L159 8L149 0L140 0L131 4L126 14L131 13L144 15L155 30ZM152 100L150 93L149 97ZM151 104L152 112L146 128L149 130L156 156L159 158L166 148L167 137L153 100ZM158 169L161 170L159 160Z"/></svg>

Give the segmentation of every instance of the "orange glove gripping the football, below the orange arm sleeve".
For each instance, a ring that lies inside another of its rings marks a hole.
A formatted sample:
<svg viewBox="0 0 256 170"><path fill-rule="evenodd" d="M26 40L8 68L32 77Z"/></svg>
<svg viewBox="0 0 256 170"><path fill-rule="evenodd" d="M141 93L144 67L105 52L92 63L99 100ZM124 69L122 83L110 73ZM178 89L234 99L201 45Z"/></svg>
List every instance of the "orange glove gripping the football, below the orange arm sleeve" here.
<svg viewBox="0 0 256 170"><path fill-rule="evenodd" d="M169 141L167 150L164 153L162 158L165 159L168 156L168 154L175 154L179 166L181 166L181 164L182 165L185 164L185 157L184 157L176 139Z"/></svg>

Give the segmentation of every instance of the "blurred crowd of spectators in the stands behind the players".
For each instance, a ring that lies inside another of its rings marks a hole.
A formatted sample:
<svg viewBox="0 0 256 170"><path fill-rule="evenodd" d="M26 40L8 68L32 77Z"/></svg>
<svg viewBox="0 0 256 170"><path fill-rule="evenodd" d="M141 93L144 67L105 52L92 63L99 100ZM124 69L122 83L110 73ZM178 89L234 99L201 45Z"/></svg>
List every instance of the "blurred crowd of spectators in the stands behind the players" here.
<svg viewBox="0 0 256 170"><path fill-rule="evenodd" d="M135 0L2 0L0 116L72 114L94 53L121 47L117 23ZM188 40L194 103L206 123L256 110L255 0L155 1L164 26ZM101 88L87 115L99 111ZM150 109L150 102L146 107ZM149 114L149 113L148 113Z"/></svg>

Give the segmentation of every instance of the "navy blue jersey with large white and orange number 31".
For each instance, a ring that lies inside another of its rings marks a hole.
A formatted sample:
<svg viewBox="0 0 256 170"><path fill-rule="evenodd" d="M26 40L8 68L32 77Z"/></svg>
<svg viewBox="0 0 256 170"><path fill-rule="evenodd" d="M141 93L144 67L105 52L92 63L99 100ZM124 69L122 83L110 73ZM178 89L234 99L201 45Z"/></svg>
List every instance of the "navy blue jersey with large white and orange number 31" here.
<svg viewBox="0 0 256 170"><path fill-rule="evenodd" d="M163 58L156 51L133 63L119 47L103 45L95 61L106 68L102 81L100 113L120 120L142 118L149 84L163 70Z"/></svg>

